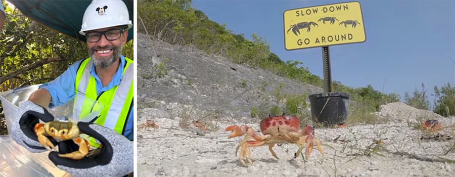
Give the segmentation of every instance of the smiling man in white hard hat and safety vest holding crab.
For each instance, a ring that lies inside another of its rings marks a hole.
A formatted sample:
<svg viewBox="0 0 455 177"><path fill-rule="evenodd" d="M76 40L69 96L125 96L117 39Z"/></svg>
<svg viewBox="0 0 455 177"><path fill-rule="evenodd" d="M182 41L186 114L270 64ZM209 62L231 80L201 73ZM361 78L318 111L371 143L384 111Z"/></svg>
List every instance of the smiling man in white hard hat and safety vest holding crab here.
<svg viewBox="0 0 455 177"><path fill-rule="evenodd" d="M51 140L54 146L58 145L59 152L51 152L49 158L74 176L121 176L132 172L133 61L122 55L128 29L132 27L129 19L121 0L94 0L87 7L79 33L86 38L90 58L70 65L19 106L13 126L13 139L18 144L31 152L45 151L42 147L45 144L40 144L33 133L38 119L44 122L54 119L44 108L74 99L74 110L83 117L94 111L92 104L83 101L89 98L101 102L104 108L94 120L79 122L78 128L90 136L86 137L87 143L99 155L78 160L64 158L59 154L79 153L79 147L73 141Z"/></svg>

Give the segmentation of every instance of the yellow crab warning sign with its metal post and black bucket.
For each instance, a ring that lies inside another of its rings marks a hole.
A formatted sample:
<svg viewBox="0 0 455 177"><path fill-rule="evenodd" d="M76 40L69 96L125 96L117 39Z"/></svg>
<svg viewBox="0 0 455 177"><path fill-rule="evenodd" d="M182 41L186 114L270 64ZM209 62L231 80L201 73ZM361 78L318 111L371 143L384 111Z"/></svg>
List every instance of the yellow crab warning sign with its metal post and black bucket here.
<svg viewBox="0 0 455 177"><path fill-rule="evenodd" d="M332 93L329 46L367 40L360 3L346 2L287 10L283 13L283 27L286 50L322 48L324 93L308 96L311 119L326 126L345 122L350 96Z"/></svg>

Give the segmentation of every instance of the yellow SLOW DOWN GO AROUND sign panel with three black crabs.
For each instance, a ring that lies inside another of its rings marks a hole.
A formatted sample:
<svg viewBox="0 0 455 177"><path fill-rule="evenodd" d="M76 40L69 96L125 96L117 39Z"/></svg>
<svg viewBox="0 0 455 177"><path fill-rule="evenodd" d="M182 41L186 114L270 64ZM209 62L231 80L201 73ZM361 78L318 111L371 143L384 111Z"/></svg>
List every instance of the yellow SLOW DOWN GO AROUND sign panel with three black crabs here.
<svg viewBox="0 0 455 177"><path fill-rule="evenodd" d="M288 51L367 40L359 2L287 10L283 23Z"/></svg>

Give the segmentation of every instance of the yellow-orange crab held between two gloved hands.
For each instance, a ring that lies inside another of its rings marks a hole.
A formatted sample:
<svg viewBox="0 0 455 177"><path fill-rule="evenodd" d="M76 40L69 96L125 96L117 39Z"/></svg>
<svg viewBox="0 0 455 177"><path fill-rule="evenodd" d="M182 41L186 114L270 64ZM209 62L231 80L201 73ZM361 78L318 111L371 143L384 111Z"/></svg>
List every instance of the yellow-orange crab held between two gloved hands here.
<svg viewBox="0 0 455 177"><path fill-rule="evenodd" d="M90 144L88 144L87 140L79 137L79 128L75 122L51 121L44 124L37 123L34 131L36 136L38 136L39 143L41 143L41 145L49 151L52 151L51 148L57 151L51 141L49 141L49 136L54 138L57 142L73 140L74 143L79 146L79 151L74 151L68 154L59 154L60 157L78 160L88 154Z"/></svg>

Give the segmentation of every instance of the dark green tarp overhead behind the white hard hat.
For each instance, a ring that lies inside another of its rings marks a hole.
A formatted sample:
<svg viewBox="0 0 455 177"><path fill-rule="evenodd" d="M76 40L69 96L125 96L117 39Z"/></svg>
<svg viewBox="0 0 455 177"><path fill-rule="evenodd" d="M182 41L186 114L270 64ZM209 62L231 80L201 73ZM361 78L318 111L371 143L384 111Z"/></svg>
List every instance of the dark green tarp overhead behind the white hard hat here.
<svg viewBox="0 0 455 177"><path fill-rule="evenodd" d="M79 34L85 9L92 0L7 0L18 8L25 16L63 33L74 39L85 42L85 37ZM122 0L133 21L133 0ZM133 38L133 28L128 30L127 41Z"/></svg>

